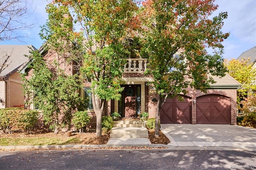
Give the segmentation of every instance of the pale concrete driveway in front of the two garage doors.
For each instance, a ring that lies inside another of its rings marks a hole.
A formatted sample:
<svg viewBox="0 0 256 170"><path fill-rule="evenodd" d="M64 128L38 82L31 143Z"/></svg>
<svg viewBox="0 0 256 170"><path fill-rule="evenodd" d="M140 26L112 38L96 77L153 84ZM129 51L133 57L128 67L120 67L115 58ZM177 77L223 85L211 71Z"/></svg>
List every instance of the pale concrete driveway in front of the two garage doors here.
<svg viewBox="0 0 256 170"><path fill-rule="evenodd" d="M256 129L237 125L161 124L171 146L256 147Z"/></svg>

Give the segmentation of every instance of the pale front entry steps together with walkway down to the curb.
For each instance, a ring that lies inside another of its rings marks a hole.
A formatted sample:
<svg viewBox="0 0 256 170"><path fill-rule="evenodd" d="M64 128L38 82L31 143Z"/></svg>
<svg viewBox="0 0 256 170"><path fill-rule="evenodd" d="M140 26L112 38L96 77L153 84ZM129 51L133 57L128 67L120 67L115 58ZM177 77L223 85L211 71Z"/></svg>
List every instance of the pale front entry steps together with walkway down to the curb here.
<svg viewBox="0 0 256 170"><path fill-rule="evenodd" d="M143 124L143 127L142 127ZM151 144L148 139L148 129L145 122L140 120L119 120L114 121L110 130L110 138L107 144Z"/></svg>

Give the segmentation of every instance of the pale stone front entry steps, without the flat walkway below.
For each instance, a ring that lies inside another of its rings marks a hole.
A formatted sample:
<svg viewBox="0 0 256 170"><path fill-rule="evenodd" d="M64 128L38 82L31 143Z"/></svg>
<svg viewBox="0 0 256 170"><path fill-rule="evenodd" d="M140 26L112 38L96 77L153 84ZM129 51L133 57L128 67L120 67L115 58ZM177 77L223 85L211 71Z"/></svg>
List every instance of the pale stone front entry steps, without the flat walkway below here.
<svg viewBox="0 0 256 170"><path fill-rule="evenodd" d="M148 129L142 124L140 120L114 121L110 138L148 138Z"/></svg>

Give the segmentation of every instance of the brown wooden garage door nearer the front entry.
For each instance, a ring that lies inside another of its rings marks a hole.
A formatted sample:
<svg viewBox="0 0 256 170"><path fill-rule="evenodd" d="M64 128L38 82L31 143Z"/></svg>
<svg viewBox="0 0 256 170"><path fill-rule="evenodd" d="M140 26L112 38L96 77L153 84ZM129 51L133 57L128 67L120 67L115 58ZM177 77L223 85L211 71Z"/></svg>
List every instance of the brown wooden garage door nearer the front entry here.
<svg viewBox="0 0 256 170"><path fill-rule="evenodd" d="M161 123L190 123L191 124L191 99L183 97L184 101L178 101L177 97L168 98L160 109Z"/></svg>

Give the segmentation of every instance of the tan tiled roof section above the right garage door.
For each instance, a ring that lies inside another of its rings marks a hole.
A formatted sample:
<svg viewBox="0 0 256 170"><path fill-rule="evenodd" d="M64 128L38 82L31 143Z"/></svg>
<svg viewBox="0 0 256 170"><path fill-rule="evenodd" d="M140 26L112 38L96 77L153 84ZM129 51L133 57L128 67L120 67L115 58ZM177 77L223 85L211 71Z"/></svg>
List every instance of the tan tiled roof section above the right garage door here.
<svg viewBox="0 0 256 170"><path fill-rule="evenodd" d="M211 88L216 89L238 89L241 84L236 81L232 76L226 73L224 77L218 77L216 75L208 75L208 77L212 77L216 83L211 84Z"/></svg>

